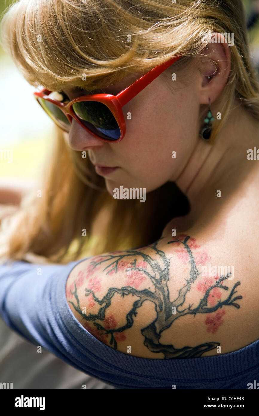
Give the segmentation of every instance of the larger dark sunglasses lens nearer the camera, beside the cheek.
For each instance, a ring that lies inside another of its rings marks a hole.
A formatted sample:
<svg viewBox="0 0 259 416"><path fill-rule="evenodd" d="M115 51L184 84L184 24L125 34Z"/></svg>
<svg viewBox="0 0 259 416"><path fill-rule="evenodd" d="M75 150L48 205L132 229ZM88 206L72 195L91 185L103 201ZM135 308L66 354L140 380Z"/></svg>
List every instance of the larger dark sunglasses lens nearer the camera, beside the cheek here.
<svg viewBox="0 0 259 416"><path fill-rule="evenodd" d="M98 101L81 101L72 105L82 124L106 140L117 140L121 131L111 110Z"/></svg>

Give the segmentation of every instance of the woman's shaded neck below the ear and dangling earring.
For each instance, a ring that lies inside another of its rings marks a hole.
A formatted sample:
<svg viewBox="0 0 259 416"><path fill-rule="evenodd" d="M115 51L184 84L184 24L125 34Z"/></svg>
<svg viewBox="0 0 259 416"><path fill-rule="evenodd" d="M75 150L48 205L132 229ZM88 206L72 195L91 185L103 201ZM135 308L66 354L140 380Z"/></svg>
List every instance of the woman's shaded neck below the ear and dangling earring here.
<svg viewBox="0 0 259 416"><path fill-rule="evenodd" d="M187 165L175 183L187 196L190 213L180 219L184 228L212 218L242 183L259 182L259 166L247 159L247 150L259 146L259 121L241 106L235 106L218 134L215 144L199 139ZM221 191L221 198L218 191ZM220 200L221 203L217 203ZM206 215L207 214L207 215Z"/></svg>

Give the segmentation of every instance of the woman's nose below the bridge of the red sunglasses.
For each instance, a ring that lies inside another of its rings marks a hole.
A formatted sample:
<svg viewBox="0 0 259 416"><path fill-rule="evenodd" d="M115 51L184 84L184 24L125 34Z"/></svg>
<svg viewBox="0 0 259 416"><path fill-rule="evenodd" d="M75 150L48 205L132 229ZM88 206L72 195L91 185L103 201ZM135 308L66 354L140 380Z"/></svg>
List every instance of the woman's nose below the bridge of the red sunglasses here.
<svg viewBox="0 0 259 416"><path fill-rule="evenodd" d="M94 137L85 130L76 120L72 119L72 124L68 134L68 144L73 150L88 150L93 147L103 146L104 141Z"/></svg>

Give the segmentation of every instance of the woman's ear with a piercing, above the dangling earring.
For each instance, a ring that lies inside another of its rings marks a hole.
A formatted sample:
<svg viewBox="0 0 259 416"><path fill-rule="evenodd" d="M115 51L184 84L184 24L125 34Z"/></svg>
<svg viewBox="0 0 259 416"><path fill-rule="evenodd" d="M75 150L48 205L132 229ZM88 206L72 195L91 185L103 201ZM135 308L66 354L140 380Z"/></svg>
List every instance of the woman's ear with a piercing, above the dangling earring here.
<svg viewBox="0 0 259 416"><path fill-rule="evenodd" d="M200 104L208 104L209 98L211 103L217 99L227 83L231 69L231 47L221 33L213 32L201 55L198 93Z"/></svg>

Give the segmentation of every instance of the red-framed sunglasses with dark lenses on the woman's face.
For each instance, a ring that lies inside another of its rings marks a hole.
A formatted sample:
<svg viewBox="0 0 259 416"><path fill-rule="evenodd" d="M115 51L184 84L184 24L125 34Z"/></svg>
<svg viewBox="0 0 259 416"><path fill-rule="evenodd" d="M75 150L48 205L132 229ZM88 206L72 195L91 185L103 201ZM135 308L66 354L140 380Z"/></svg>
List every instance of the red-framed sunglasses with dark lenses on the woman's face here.
<svg viewBox="0 0 259 416"><path fill-rule="evenodd" d="M173 57L151 69L117 95L84 95L70 102L63 102L64 100L58 101L49 97L52 91L42 89L40 92L34 92L34 96L52 120L67 133L72 119L74 119L98 139L113 143L118 142L123 139L126 133L122 107L180 57L181 55Z"/></svg>

